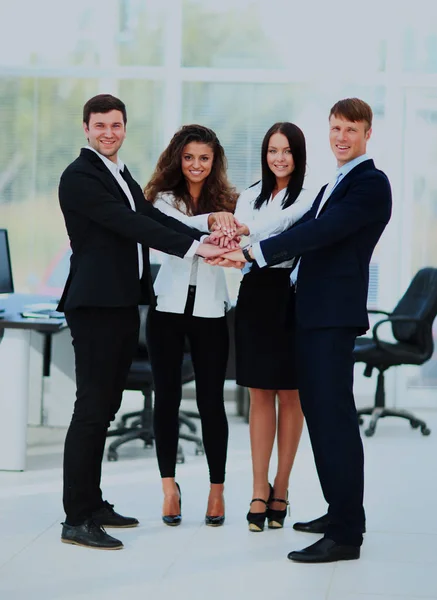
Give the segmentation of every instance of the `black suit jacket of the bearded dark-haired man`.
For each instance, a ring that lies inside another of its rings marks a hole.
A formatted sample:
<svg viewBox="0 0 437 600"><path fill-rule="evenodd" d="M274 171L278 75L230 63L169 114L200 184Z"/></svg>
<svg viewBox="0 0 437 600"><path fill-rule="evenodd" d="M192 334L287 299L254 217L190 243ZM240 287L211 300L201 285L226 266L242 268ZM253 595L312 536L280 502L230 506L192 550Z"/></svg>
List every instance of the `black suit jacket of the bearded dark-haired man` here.
<svg viewBox="0 0 437 600"><path fill-rule="evenodd" d="M100 157L82 149L63 172L59 202L70 238L70 274L58 310L81 306L153 304L149 247L183 257L202 233L164 215L144 198L128 169L123 171L136 212ZM137 243L144 271L138 276Z"/></svg>

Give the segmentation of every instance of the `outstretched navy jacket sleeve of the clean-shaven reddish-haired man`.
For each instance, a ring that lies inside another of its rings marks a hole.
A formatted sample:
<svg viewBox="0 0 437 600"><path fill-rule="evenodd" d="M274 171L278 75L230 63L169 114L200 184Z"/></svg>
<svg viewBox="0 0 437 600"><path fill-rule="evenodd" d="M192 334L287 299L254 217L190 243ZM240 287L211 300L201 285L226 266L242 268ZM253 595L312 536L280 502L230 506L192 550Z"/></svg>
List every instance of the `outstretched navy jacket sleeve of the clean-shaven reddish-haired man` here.
<svg viewBox="0 0 437 600"><path fill-rule="evenodd" d="M390 184L383 174L376 172L354 181L346 196L317 219L305 220L304 217L304 222L292 229L261 242L261 251L267 265L275 265L335 244L371 223L387 223L390 213Z"/></svg>

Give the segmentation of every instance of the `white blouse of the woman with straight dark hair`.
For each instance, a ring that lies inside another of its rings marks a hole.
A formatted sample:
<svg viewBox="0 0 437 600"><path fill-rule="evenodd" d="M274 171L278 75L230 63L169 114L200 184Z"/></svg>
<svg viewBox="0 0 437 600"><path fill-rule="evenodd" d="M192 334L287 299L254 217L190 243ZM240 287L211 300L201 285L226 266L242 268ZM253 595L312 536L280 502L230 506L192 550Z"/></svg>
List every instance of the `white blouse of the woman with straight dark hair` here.
<svg viewBox="0 0 437 600"><path fill-rule="evenodd" d="M250 244L282 233L303 217L314 202L314 196L307 190L302 190L291 206L282 209L282 201L286 193L286 188L284 188L274 198L270 196L269 201L264 202L261 208L256 209L254 204L260 192L261 181L240 194L235 209L236 219L249 228ZM293 260L288 260L270 268L291 267L293 262Z"/></svg>

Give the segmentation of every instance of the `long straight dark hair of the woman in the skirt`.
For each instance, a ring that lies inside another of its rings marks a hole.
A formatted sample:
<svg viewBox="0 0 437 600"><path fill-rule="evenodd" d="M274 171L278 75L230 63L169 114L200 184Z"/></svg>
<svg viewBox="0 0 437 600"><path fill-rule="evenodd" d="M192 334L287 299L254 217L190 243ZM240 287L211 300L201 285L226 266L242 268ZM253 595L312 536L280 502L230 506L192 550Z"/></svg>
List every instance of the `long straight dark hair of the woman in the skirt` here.
<svg viewBox="0 0 437 600"><path fill-rule="evenodd" d="M305 179L307 153L305 136L301 129L294 123L288 121L275 123L270 127L264 136L261 145L261 192L255 200L254 207L260 209L261 206L268 202L276 185L276 177L267 163L267 150L269 147L270 138L274 133L282 133L288 140L291 153L294 161L294 171L291 174L287 185L287 191L282 201L282 208L287 208L293 204L296 198L302 191L303 181Z"/></svg>

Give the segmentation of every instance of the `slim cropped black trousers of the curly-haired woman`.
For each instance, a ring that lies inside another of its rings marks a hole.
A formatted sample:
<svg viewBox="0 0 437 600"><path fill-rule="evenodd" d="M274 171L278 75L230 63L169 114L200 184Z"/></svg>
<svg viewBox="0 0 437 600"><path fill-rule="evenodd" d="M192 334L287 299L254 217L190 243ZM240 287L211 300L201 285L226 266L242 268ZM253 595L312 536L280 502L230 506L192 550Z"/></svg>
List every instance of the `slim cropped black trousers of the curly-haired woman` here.
<svg viewBox="0 0 437 600"><path fill-rule="evenodd" d="M161 477L175 477L182 399L181 365L185 338L190 344L196 400L211 483L225 480L228 421L223 386L229 351L226 317L192 316L194 296L185 314L149 310L147 346L155 387L154 433Z"/></svg>

